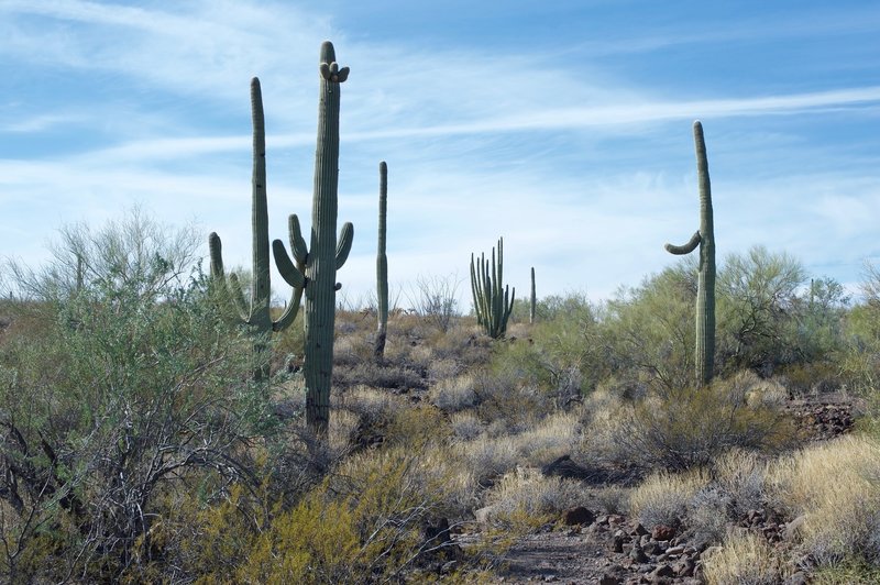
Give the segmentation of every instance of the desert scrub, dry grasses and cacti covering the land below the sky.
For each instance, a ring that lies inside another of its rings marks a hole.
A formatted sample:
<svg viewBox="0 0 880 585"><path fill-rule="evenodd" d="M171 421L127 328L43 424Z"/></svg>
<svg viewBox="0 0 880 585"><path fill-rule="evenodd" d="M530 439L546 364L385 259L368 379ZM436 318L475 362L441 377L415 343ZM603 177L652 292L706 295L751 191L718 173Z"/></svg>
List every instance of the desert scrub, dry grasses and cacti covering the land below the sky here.
<svg viewBox="0 0 880 585"><path fill-rule="evenodd" d="M700 258L612 298L340 307L339 68L321 51L311 241L273 243L260 86L251 273L143 211L3 265L0 576L31 582L515 581L524 539L578 542L585 582L869 583L880 575L880 273L854 301L784 251ZM387 167L381 167L381 216ZM384 220L383 220L384 221ZM504 288L503 288L504 287ZM249 295L245 291L250 292ZM299 310L304 299L304 310ZM694 309L696 308L696 310ZM696 321L696 327L695 327ZM548 537L550 538L550 537Z"/></svg>

